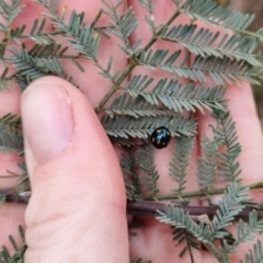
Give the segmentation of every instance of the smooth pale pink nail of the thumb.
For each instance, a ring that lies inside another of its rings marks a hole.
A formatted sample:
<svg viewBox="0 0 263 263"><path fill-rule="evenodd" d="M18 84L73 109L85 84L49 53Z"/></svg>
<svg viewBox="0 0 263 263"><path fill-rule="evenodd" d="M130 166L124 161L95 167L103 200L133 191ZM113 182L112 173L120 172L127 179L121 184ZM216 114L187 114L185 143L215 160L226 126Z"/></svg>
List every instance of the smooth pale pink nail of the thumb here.
<svg viewBox="0 0 263 263"><path fill-rule="evenodd" d="M22 96L23 132L37 164L57 157L73 133L71 103L61 85L38 82Z"/></svg>

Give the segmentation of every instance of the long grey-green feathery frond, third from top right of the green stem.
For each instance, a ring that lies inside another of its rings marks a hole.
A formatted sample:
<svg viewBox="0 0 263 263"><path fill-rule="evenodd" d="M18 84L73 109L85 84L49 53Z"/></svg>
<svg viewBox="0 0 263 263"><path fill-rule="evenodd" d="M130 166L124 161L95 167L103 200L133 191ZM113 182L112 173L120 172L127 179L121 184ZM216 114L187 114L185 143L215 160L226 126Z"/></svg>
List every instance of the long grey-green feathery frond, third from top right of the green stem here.
<svg viewBox="0 0 263 263"><path fill-rule="evenodd" d="M141 53L139 62L148 69L161 68L174 78L184 77L202 83L207 82L205 75L208 75L218 85L232 82L239 83L240 80L259 84L256 77L262 73L262 69L255 72L254 68L243 60L239 61L228 57L220 58L210 55L205 58L196 56L191 66L187 66L187 59L176 65L180 54L181 52L176 50L168 56L169 50L153 52L150 49L147 53Z"/></svg>

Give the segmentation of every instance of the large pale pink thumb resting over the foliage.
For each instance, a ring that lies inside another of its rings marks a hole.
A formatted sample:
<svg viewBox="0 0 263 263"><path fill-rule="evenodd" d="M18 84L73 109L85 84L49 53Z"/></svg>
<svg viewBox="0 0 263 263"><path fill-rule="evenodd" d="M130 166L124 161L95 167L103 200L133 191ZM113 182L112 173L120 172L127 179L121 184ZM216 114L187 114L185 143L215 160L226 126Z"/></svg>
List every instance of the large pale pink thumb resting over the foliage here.
<svg viewBox="0 0 263 263"><path fill-rule="evenodd" d="M124 183L87 99L56 77L22 96L32 197L25 262L128 262Z"/></svg>

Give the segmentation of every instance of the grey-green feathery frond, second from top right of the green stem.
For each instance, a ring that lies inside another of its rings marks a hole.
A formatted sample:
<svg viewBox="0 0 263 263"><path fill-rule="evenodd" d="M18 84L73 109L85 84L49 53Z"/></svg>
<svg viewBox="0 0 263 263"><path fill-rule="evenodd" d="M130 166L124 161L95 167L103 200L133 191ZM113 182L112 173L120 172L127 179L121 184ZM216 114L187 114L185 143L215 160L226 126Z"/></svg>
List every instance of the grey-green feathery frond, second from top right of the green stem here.
<svg viewBox="0 0 263 263"><path fill-rule="evenodd" d="M244 60L254 67L262 66L258 56L253 54L258 46L255 37L225 34L219 44L216 44L219 35L219 32L215 33L207 28L186 24L165 28L161 37L163 41L180 43L197 56L220 58L226 56L230 59Z"/></svg>

